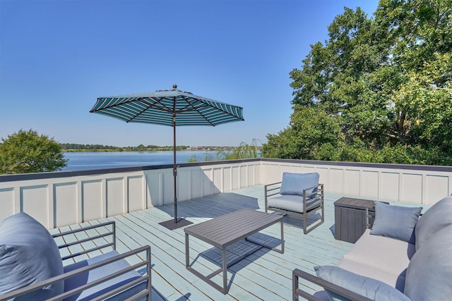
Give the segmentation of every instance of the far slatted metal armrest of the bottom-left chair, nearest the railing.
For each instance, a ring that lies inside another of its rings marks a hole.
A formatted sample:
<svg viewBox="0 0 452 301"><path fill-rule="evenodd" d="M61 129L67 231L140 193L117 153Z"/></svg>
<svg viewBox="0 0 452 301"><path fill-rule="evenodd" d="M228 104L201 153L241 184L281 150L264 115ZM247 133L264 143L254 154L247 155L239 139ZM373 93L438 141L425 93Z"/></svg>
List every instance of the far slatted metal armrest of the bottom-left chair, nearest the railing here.
<svg viewBox="0 0 452 301"><path fill-rule="evenodd" d="M67 240L71 240L76 234L86 235L87 238L76 239L73 242L66 242ZM66 249L69 255L61 257L62 260L71 259L74 257L78 257L82 254L88 254L90 252L104 249L105 247L112 247L112 250L116 250L116 224L114 221L108 221L106 223L100 223L98 225L86 226L79 229L74 229L71 231L66 231L62 233L53 234L52 237L57 242L58 248L61 252L61 249ZM64 242L59 244L58 240ZM86 244L83 243L92 242L94 247L86 247ZM82 251L73 252L71 247L76 247Z"/></svg>

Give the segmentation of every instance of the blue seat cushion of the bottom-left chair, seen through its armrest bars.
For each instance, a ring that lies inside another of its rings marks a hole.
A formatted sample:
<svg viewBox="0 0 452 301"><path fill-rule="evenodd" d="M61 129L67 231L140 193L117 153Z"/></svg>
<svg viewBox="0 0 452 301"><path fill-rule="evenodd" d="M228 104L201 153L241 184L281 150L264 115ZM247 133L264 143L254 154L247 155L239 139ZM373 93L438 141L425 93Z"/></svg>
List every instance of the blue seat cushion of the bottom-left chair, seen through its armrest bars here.
<svg viewBox="0 0 452 301"><path fill-rule="evenodd" d="M85 259L82 262L76 262L75 264L71 264L69 266L64 266L64 272L73 271L75 269L81 268L83 266L88 266L90 264L95 264L96 262L100 262L105 259L112 258L119 254L117 251L108 252L90 259ZM126 262L126 260L121 259L116 262L112 262L111 264L107 264L98 269L93 269L85 274L80 274L75 277L71 277L64 281L64 291L69 291L74 288L78 288L78 286L84 285L86 283L91 283L97 279L105 277L107 275L114 274L121 269L126 269L130 265ZM109 290L113 290L114 288L119 288L119 286L129 283L137 278L140 278L141 275L138 274L137 271L129 271L126 274L121 274L116 278L112 278L109 281L105 281L100 283L99 285L93 286L93 288L88 288L87 290L83 290L82 293L73 295L65 299L65 301L78 301L78 300L91 300L94 297L98 297L104 293L107 293ZM138 283L138 285L129 288L129 290L125 290L118 295L114 295L110 297L109 301L112 300L126 300L127 298L135 295L136 293L141 292L141 290L146 289L145 282ZM146 296L143 297L143 300L147 300Z"/></svg>

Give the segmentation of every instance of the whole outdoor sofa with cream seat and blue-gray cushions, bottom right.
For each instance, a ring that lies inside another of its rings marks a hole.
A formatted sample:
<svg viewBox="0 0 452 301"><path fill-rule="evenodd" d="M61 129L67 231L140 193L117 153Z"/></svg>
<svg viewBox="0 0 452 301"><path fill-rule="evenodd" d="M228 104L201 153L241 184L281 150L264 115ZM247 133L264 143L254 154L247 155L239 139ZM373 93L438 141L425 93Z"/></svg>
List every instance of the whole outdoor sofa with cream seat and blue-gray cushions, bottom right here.
<svg viewBox="0 0 452 301"><path fill-rule="evenodd" d="M293 300L451 300L452 196L421 209L376 202L374 225L338 266L293 271ZM323 290L310 295L301 279Z"/></svg>

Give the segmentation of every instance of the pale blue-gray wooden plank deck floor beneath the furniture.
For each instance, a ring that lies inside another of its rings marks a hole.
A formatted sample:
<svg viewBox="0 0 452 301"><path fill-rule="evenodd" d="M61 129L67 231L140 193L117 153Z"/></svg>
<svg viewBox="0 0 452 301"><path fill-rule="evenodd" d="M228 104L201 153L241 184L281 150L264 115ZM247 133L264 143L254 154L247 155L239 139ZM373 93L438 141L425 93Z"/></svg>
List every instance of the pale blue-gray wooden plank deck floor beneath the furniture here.
<svg viewBox="0 0 452 301"><path fill-rule="evenodd" d="M152 254L152 285L161 295L160 300L292 300L292 270L295 268L314 273L316 265L338 264L352 244L334 238L333 202L342 195L326 194L325 223L304 235L302 221L285 217L285 253L258 250L228 269L229 293L223 295L185 267L185 237L183 228L169 231L158 223L171 219L172 204L112 216L116 221L117 250L126 252L141 245L150 245ZM199 223L242 208L263 210L263 185L202 197L178 204L179 216ZM315 216L314 216L315 218ZM90 224L104 220L91 221ZM86 223L88 224L88 223ZM81 225L64 227L60 231ZM278 243L279 224L259 233ZM55 229L54 231L58 231ZM246 252L250 242L238 242L230 249L228 257ZM193 266L203 274L220 267L220 252L196 238L190 238L190 255ZM196 260L195 260L196 259ZM213 281L222 283L221 276ZM307 284L314 292L315 286ZM159 297L154 295L153 300Z"/></svg>

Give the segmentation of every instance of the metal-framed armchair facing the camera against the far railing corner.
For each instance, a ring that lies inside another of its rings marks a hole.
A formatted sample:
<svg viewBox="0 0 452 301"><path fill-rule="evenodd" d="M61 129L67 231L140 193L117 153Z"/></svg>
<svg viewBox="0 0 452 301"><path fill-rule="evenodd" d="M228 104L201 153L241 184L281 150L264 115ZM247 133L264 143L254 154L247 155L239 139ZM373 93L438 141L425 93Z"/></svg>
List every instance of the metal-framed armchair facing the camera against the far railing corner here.
<svg viewBox="0 0 452 301"><path fill-rule="evenodd" d="M303 219L303 232L309 233L324 221L323 184L319 173L283 173L283 180L265 185L266 212L273 210ZM321 210L321 219L307 228L307 217Z"/></svg>

